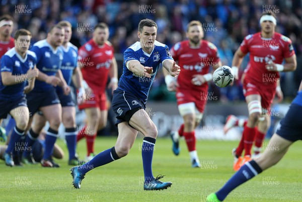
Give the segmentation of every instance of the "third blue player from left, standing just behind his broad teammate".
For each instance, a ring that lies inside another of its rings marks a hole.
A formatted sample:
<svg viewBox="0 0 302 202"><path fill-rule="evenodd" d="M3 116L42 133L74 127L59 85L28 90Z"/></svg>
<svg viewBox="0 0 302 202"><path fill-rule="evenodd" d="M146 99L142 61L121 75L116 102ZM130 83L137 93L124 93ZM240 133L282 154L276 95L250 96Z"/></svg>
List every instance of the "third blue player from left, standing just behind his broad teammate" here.
<svg viewBox="0 0 302 202"><path fill-rule="evenodd" d="M69 41L71 38L71 24L68 21L60 21L58 23L65 31L65 37L60 48L63 50L63 61L61 72L67 85L70 85L71 80L74 86L79 89L78 101L85 100L85 89L82 86L82 73L77 67L78 48L72 45ZM62 106L62 123L65 127L65 140L69 152L69 165L79 165L79 159L75 156L77 147L77 128L75 125L75 103L72 100L71 93L64 95L63 89L56 87L56 93ZM45 126L46 119L43 114L38 113L34 116L32 128L34 131L41 131Z"/></svg>

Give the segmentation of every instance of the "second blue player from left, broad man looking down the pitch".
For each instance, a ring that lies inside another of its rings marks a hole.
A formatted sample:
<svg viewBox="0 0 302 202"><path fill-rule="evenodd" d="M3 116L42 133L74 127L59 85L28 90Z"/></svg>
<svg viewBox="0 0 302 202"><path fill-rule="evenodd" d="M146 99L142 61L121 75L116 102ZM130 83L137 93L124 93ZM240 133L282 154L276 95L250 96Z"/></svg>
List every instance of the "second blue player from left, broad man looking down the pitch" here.
<svg viewBox="0 0 302 202"><path fill-rule="evenodd" d="M51 158L62 117L60 100L54 87L62 87L65 95L68 95L70 92L70 88L66 84L60 70L63 51L59 46L62 44L63 39L64 29L59 25L55 25L49 29L47 38L36 42L31 49L37 56L39 76L35 82L34 89L27 95L28 109L31 116L30 122L33 117L32 115L38 110L43 113L49 122L45 138L45 151L41 160L43 167L59 167ZM31 147L37 140L39 133L40 131L31 128L27 134L25 145ZM24 152L22 158L23 162L25 160L32 161L30 152Z"/></svg>

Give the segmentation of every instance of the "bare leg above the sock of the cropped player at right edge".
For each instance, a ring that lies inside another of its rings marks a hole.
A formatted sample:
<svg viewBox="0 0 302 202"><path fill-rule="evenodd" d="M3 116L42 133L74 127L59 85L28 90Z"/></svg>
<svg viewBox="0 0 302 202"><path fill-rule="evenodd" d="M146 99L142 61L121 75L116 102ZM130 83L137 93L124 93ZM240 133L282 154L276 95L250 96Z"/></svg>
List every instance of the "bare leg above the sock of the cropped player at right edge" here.
<svg viewBox="0 0 302 202"><path fill-rule="evenodd" d="M262 170L266 170L282 159L292 143L275 133L270 139L264 153L255 159L255 161Z"/></svg>

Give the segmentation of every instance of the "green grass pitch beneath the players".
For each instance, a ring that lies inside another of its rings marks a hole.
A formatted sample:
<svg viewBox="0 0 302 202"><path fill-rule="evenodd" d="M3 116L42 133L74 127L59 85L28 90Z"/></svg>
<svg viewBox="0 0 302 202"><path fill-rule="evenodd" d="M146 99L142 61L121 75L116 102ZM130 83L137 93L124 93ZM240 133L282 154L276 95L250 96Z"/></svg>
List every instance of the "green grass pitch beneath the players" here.
<svg viewBox="0 0 302 202"><path fill-rule="evenodd" d="M98 138L96 152L111 148L115 140ZM10 168L0 161L0 201L204 202L209 193L219 189L234 174L231 150L238 142L198 141L197 151L203 165L198 169L191 168L184 141L176 157L171 150L171 140L159 138L153 172L155 176L166 175L162 180L173 184L167 190L144 191L141 143L142 138L138 137L128 156L87 173L81 189L74 189L71 184L68 153L62 140L57 141L65 153L63 160L57 160L61 168L40 165ZM301 146L301 142L295 143L279 164L235 189L224 201L302 201ZM78 153L80 157L85 156L85 140L80 142Z"/></svg>

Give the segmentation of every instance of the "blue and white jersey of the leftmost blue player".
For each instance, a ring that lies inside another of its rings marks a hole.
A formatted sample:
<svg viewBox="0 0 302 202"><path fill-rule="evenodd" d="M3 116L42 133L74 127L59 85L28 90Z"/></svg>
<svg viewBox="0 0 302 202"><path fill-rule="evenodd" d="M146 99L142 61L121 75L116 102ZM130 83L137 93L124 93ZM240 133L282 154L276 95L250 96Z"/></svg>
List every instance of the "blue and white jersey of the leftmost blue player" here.
<svg viewBox="0 0 302 202"><path fill-rule="evenodd" d="M1 72L11 72L12 75L26 74L27 71L37 63L36 54L30 50L27 51L25 58L23 59L19 55L15 48L7 51L1 58ZM15 100L24 96L24 87L26 81L4 86L2 83L2 78L0 77L0 99L1 100Z"/></svg>

